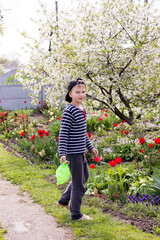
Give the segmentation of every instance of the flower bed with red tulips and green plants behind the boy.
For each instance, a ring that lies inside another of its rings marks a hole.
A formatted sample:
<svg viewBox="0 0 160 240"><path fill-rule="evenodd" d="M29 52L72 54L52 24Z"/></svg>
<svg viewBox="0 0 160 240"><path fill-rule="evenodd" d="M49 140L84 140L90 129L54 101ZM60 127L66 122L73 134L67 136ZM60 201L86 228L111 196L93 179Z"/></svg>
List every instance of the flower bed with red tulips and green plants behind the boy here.
<svg viewBox="0 0 160 240"><path fill-rule="evenodd" d="M43 114L30 110L1 111L0 114L1 136L11 145L13 152L23 153L32 163L47 163L46 167L59 166L58 136L62 116L59 109L45 109ZM103 209L114 209L119 214L124 214L124 209L127 209L126 214L129 215L132 210L136 218L143 212L143 217L159 220L160 203L158 201L157 205L152 205L153 194L157 199L159 197L159 188L156 188L160 181L159 137L157 135L153 140L147 140L147 134L144 130L140 131L137 124L130 127L124 121L116 121L105 109L95 111L88 117L88 136L98 148L99 156L93 159L87 153L90 178L86 183L85 198L98 198L103 203ZM112 152L104 152L107 147ZM150 196L150 201L140 201L144 194Z"/></svg>

